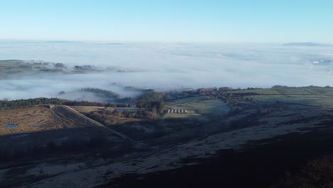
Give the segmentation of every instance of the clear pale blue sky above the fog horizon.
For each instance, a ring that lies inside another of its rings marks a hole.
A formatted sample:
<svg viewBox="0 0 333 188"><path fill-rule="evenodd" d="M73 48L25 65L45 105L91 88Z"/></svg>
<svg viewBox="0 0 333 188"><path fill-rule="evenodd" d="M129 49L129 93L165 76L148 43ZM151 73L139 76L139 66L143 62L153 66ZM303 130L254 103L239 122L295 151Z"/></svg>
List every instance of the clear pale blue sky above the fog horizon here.
<svg viewBox="0 0 333 188"><path fill-rule="evenodd" d="M0 39L333 43L332 0L1 0Z"/></svg>

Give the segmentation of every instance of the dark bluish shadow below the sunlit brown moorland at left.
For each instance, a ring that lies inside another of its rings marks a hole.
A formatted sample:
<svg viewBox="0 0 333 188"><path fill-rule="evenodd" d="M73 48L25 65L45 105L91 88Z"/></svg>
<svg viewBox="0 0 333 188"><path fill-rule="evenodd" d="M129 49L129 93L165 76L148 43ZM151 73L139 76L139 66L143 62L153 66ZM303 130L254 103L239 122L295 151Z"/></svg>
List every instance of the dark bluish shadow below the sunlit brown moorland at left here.
<svg viewBox="0 0 333 188"><path fill-rule="evenodd" d="M132 142L100 127L42 130L0 136L0 164L15 160L45 160L52 158L52 155L93 151L104 154L104 157L119 157L130 150Z"/></svg>

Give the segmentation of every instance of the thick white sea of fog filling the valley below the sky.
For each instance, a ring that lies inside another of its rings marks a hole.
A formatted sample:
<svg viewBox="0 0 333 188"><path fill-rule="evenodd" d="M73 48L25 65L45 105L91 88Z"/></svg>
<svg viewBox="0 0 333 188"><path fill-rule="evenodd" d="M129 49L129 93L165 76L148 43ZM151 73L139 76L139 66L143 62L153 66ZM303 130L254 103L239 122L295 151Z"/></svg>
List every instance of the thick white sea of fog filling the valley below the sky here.
<svg viewBox="0 0 333 188"><path fill-rule="evenodd" d="M0 60L8 59L127 72L18 76L0 80L0 99L57 97L60 91L73 93L85 87L137 95L119 85L155 90L333 85L333 46L0 41Z"/></svg>

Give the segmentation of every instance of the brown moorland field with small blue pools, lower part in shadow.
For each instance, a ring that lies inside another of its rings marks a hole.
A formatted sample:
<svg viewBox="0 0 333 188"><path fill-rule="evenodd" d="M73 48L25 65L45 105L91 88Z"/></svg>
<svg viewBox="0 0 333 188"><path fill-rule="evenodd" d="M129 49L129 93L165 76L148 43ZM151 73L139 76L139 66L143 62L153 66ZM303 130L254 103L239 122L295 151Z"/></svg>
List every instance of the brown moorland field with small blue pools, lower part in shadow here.
<svg viewBox="0 0 333 188"><path fill-rule="evenodd" d="M15 125L8 127L8 125ZM49 109L43 106L0 111L0 145L35 143L46 145L68 139L107 137L121 140L108 128L96 125L63 106Z"/></svg>

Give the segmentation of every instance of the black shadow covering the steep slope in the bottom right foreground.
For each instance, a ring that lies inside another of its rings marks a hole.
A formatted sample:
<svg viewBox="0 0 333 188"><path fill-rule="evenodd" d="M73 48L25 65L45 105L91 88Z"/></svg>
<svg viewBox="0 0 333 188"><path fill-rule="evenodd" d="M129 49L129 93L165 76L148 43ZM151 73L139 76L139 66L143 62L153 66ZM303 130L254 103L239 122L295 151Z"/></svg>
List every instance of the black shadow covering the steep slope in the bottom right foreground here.
<svg viewBox="0 0 333 188"><path fill-rule="evenodd" d="M283 135L261 140L253 145L257 147L248 145L242 151L222 150L218 157L209 159L188 158L181 161L184 166L179 169L150 174L128 174L99 188L271 187L286 173L297 172L309 160L333 152L333 131L317 130L304 134ZM196 164L185 165L189 163ZM329 174L332 177L333 174L324 170L322 173L328 173L324 174L326 177ZM321 175L318 174L318 177ZM318 181L313 185L320 187L320 183Z"/></svg>

